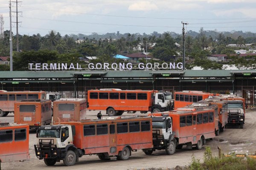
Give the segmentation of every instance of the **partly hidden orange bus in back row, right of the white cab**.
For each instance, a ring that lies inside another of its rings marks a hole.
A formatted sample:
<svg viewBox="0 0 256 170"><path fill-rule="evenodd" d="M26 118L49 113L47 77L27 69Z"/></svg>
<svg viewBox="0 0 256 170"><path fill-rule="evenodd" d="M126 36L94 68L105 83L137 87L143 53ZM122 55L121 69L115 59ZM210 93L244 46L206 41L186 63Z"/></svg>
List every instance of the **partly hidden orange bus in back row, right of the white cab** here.
<svg viewBox="0 0 256 170"><path fill-rule="evenodd" d="M209 96L218 94L207 93L203 91L175 91L174 92L174 109L182 108L183 106L190 105L193 102L198 102L207 99Z"/></svg>

